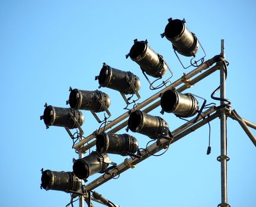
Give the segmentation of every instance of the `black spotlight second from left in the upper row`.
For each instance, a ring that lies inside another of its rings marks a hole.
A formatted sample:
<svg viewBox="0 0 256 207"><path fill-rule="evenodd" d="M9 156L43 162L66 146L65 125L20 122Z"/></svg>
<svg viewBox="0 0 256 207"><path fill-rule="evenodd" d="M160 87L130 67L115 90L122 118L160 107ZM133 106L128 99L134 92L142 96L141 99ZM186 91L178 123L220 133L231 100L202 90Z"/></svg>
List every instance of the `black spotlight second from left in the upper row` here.
<svg viewBox="0 0 256 207"><path fill-rule="evenodd" d="M72 109L82 109L94 112L105 111L100 101L108 108L110 106L110 97L107 93L101 92L100 90L79 90L72 89L69 94L69 105Z"/></svg>

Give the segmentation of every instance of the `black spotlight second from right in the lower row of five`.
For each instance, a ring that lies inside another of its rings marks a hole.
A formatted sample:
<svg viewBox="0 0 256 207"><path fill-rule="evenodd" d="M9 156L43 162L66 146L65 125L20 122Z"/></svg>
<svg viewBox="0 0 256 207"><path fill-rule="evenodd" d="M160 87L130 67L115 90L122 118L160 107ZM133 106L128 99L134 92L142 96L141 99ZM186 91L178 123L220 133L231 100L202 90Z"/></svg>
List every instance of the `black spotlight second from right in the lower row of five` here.
<svg viewBox="0 0 256 207"><path fill-rule="evenodd" d="M147 135L149 138L171 136L167 122L142 111L133 111L128 119L128 128L133 132Z"/></svg>

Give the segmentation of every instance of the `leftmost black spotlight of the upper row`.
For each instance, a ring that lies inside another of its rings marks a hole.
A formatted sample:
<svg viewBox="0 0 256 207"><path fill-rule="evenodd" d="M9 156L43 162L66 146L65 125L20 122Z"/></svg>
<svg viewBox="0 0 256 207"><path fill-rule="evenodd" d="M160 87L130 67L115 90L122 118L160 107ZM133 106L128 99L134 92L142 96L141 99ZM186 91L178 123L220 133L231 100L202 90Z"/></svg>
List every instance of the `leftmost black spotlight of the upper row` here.
<svg viewBox="0 0 256 207"><path fill-rule="evenodd" d="M47 106L47 104L44 106L46 108L40 119L44 119L44 124L46 124L47 128L49 126L57 126L73 129L80 128L84 123L84 114L81 111L51 105Z"/></svg>

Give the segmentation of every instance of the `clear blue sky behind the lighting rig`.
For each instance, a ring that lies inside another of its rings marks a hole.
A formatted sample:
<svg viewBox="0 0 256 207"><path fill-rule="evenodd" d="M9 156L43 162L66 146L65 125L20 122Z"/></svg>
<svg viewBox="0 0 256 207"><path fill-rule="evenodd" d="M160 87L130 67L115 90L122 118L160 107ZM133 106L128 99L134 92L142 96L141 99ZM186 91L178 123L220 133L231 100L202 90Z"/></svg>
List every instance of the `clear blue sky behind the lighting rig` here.
<svg viewBox="0 0 256 207"><path fill-rule="evenodd" d="M39 117L44 103L65 107L69 86L95 90L102 63L130 70L142 80L142 101L153 95L139 66L125 54L133 40L148 39L174 72L184 70L172 46L161 38L167 19L180 18L203 44L210 59L225 39L229 61L226 96L241 117L256 122L255 1L0 1L1 86L1 206L66 206L69 195L40 189L40 169L71 171L77 154L63 128L46 130ZM219 85L219 73L188 92L203 96ZM123 114L118 92L110 111ZM160 108L151 114L159 115ZM85 112L85 135L99 127ZM164 119L171 130L184 121L173 114ZM207 156L208 126L171 145L161 157L151 157L96 190L127 206L217 206L220 203L219 120L211 123L212 153ZM254 134L255 130L253 131ZM124 133L121 130L120 133ZM132 133L145 147L149 138ZM228 201L232 207L255 206L256 148L239 124L228 119ZM125 157L111 156L120 163ZM89 177L89 182L100 174ZM75 204L78 206L78 203ZM95 206L101 206L97 203Z"/></svg>

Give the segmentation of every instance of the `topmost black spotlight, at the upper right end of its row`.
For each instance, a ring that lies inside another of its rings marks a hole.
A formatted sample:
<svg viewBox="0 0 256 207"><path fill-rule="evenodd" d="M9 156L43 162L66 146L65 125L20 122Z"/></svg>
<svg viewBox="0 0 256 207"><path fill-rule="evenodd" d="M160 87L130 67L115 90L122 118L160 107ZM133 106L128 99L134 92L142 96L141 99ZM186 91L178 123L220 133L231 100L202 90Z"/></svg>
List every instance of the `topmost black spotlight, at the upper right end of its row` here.
<svg viewBox="0 0 256 207"><path fill-rule="evenodd" d="M185 27L185 20L172 20L165 27L165 37L171 41L172 46L183 56L195 56L199 50L199 41L196 35Z"/></svg>

